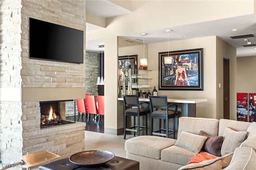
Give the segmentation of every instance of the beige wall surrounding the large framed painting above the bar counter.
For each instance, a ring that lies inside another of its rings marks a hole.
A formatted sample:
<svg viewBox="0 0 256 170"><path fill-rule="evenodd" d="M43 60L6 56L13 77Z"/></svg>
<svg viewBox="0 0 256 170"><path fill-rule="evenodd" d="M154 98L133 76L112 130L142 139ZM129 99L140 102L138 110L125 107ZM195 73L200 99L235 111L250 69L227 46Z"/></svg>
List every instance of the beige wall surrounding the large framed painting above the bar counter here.
<svg viewBox="0 0 256 170"><path fill-rule="evenodd" d="M172 99L207 99L207 102L196 104L196 116L215 118L216 113L216 37L196 38L170 42L170 51L203 48L204 91L158 90L158 95L167 95ZM152 84L158 89L158 53L168 51L168 43L149 45L149 69L152 69Z"/></svg>

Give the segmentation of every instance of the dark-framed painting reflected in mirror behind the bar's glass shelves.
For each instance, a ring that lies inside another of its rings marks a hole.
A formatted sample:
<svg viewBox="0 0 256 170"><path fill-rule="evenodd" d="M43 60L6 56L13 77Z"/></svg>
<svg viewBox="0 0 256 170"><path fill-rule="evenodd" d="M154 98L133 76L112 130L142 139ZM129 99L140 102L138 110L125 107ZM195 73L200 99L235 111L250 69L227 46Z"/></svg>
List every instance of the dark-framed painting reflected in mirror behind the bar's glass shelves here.
<svg viewBox="0 0 256 170"><path fill-rule="evenodd" d="M124 56L118 56L118 82L120 82L120 87L121 89L123 88L123 80L122 80L122 74L125 74L125 87L128 88L128 69L129 69L129 65L131 65L131 69L133 69L134 73L135 73L135 69L134 69L134 63L135 61L137 61L138 55L124 55ZM132 81L135 81L134 79L132 79ZM134 83L134 82L133 82Z"/></svg>

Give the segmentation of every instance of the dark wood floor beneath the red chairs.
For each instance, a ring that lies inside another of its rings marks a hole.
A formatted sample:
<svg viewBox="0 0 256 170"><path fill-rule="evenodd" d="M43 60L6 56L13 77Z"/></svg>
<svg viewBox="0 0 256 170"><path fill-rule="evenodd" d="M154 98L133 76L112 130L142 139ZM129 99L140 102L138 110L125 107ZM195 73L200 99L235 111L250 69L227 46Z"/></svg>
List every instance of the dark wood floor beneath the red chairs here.
<svg viewBox="0 0 256 170"><path fill-rule="evenodd" d="M85 117L85 115L84 115ZM79 122L83 122L84 121L84 117L82 119L82 114L80 115L79 118ZM101 116L100 118L100 123L94 123L93 119L93 115L91 115L89 122L87 122L86 120L86 127L85 130L87 131L91 131L91 132L98 132L98 133L104 133L104 116ZM76 121L78 119L78 116L76 116ZM66 117L67 121L74 121L74 116L70 116L70 117Z"/></svg>

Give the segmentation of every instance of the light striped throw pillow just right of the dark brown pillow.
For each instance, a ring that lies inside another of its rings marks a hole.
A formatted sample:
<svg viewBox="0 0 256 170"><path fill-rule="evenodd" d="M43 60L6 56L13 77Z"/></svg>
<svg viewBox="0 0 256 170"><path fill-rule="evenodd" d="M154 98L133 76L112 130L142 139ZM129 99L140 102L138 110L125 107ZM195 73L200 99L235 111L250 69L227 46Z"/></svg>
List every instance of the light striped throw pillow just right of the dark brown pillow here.
<svg viewBox="0 0 256 170"><path fill-rule="evenodd" d="M235 131L226 127L223 133L223 143L220 153L222 156L234 152L234 150L242 144L247 136L246 131Z"/></svg>

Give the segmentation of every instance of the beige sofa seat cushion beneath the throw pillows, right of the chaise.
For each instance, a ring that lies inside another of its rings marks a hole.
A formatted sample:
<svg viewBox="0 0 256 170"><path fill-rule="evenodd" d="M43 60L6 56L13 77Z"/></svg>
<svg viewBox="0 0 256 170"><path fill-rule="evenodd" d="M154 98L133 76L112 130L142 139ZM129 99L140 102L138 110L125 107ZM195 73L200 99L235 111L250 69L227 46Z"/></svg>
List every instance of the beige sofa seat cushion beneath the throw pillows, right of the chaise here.
<svg viewBox="0 0 256 170"><path fill-rule="evenodd" d="M178 146L171 146L162 150L161 160L186 165L194 155L194 152L187 149L180 148Z"/></svg>

